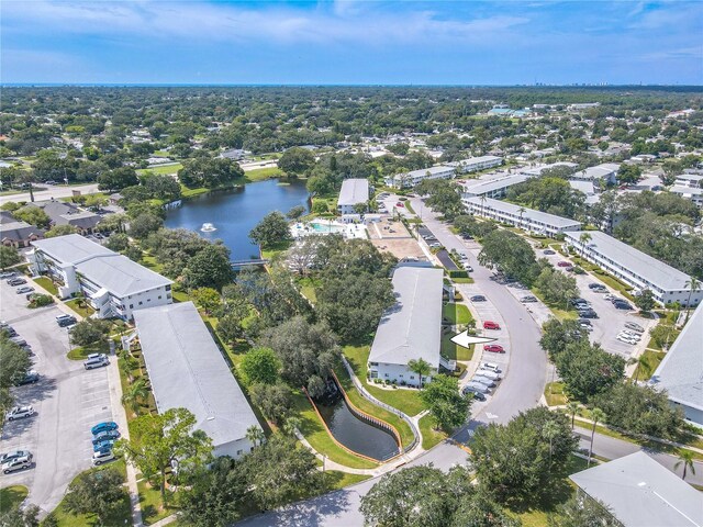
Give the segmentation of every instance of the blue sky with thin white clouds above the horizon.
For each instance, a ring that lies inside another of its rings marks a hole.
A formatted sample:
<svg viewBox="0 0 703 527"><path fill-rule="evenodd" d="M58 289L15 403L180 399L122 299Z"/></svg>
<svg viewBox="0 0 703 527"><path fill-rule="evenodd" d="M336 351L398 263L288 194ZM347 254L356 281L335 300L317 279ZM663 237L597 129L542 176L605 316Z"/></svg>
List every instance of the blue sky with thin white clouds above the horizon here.
<svg viewBox="0 0 703 527"><path fill-rule="evenodd" d="M3 0L2 82L703 83L703 2Z"/></svg>

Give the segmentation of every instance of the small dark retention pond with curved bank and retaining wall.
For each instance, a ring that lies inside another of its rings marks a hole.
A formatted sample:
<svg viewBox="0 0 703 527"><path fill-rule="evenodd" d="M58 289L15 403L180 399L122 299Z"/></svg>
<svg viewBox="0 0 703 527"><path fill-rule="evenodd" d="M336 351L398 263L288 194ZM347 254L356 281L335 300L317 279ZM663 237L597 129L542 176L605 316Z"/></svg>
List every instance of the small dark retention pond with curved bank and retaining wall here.
<svg viewBox="0 0 703 527"><path fill-rule="evenodd" d="M317 404L317 410L335 439L349 450L379 461L398 453L393 436L357 418L343 397L330 405Z"/></svg>

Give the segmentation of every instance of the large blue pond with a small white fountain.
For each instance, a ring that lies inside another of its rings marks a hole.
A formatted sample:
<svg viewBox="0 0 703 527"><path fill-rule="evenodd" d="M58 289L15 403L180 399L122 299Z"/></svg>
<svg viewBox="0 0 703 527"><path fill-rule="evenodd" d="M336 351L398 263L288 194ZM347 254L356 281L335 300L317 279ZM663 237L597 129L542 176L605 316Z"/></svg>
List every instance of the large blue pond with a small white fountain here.
<svg viewBox="0 0 703 527"><path fill-rule="evenodd" d="M208 239L222 239L233 260L258 258L258 247L249 239L249 231L271 211L284 214L295 205L308 210L309 195L304 181L279 183L269 179L185 200L180 208L167 212L165 224L169 228L194 231ZM214 231L202 232L208 223Z"/></svg>

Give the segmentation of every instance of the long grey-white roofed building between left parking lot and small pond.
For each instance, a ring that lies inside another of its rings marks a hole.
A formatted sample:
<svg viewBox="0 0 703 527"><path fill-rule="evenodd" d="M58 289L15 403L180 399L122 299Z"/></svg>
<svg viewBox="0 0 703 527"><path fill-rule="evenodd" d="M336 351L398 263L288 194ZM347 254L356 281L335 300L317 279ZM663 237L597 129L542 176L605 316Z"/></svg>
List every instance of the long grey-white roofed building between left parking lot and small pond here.
<svg viewBox="0 0 703 527"><path fill-rule="evenodd" d="M134 322L158 412L189 410L216 457L248 453L259 422L194 304L140 310Z"/></svg>

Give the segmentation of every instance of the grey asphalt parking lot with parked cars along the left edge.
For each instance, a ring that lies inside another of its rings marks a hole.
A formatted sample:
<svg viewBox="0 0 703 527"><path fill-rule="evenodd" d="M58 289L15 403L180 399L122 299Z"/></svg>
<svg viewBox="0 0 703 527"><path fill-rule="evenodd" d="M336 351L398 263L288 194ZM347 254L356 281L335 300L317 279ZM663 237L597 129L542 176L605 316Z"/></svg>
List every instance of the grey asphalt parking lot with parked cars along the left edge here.
<svg viewBox="0 0 703 527"><path fill-rule="evenodd" d="M36 288L38 290L38 288ZM68 483L90 468L90 427L112 421L105 368L86 371L82 362L66 358L68 335L55 317L56 305L29 310L23 294L4 280L0 284L0 318L9 323L31 346L41 379L14 390L18 405L32 405L32 417L7 423L0 451L29 450L34 468L0 475L1 486L22 484L30 489L29 501L45 512L62 500Z"/></svg>

